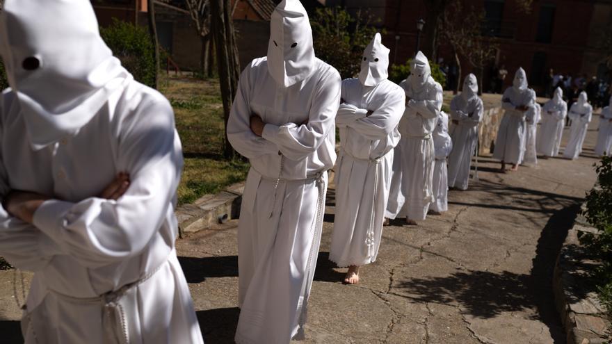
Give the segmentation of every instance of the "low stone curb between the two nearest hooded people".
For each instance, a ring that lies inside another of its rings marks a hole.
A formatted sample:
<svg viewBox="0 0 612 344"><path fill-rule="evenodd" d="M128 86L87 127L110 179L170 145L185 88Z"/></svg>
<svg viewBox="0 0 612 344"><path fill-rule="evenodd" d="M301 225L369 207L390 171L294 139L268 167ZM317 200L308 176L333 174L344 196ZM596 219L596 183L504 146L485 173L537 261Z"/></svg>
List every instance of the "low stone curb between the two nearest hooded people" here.
<svg viewBox="0 0 612 344"><path fill-rule="evenodd" d="M231 220L240 215L244 183L236 183L216 195L204 195L191 204L176 210L179 236L214 227L220 220Z"/></svg>

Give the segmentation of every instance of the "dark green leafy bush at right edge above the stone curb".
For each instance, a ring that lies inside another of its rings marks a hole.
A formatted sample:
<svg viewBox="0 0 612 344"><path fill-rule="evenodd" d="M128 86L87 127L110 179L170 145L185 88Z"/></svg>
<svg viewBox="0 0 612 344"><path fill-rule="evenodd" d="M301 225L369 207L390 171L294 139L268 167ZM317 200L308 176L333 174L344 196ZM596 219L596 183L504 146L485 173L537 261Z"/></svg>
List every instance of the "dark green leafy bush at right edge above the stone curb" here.
<svg viewBox="0 0 612 344"><path fill-rule="evenodd" d="M580 243L602 264L595 272L602 303L612 317L612 157L604 156L595 167L599 185L586 196L586 220L597 234L583 233Z"/></svg>

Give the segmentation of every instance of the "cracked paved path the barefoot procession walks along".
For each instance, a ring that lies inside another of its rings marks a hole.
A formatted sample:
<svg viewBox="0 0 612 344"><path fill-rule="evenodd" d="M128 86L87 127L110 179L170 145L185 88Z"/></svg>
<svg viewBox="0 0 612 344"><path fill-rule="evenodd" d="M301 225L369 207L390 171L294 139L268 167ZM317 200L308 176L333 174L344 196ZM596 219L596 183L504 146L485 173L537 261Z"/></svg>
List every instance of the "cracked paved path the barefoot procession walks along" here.
<svg viewBox="0 0 612 344"><path fill-rule="evenodd" d="M480 180L451 191L448 213L385 227L378 261L363 268L358 286L342 285L345 270L328 261L330 190L305 343L565 343L551 275L595 182L593 122L578 161L551 158L499 174L497 162L481 157ZM207 344L233 343L236 226L177 243ZM19 343L12 273L0 272L2 343Z"/></svg>

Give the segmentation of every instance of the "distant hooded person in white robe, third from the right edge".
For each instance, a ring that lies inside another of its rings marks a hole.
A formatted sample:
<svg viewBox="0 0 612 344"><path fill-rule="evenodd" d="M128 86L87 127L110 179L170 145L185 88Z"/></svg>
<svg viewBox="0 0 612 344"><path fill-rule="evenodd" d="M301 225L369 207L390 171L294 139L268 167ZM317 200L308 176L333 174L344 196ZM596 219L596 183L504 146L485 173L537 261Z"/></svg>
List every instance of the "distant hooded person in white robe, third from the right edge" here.
<svg viewBox="0 0 612 344"><path fill-rule="evenodd" d="M542 108L542 125L538 133L538 153L543 156L557 156L563 138L567 116L567 103L563 100L563 90L556 88L552 99Z"/></svg>

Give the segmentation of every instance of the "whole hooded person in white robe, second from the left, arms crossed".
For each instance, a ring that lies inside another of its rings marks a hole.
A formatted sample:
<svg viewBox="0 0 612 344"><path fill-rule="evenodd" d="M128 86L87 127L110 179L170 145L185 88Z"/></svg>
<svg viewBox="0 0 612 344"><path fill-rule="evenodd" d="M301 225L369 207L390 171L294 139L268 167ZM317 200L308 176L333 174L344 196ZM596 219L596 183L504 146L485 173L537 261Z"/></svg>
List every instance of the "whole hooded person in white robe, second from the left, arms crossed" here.
<svg viewBox="0 0 612 344"><path fill-rule="evenodd" d="M282 1L270 26L268 56L242 72L227 123L251 164L238 231L240 344L303 335L336 160L340 75L314 56L300 1Z"/></svg>

